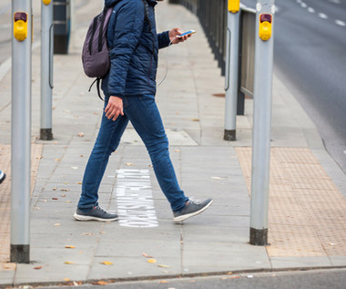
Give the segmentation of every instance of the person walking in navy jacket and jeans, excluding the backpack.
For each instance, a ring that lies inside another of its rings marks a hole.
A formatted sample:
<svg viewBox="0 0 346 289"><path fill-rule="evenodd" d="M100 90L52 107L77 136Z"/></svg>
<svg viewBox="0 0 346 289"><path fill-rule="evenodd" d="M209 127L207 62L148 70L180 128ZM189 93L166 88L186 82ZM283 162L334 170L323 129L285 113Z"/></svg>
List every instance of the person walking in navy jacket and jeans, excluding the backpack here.
<svg viewBox="0 0 346 289"><path fill-rule="evenodd" d="M110 70L102 79L104 113L94 149L86 164L82 192L74 217L78 221L116 221L117 214L98 205L98 188L111 153L117 150L131 121L148 150L158 184L167 197L173 221L205 211L213 200L193 201L178 185L168 153L168 138L156 95L158 49L187 40L180 30L157 33L155 0L105 0L113 8L108 23Z"/></svg>

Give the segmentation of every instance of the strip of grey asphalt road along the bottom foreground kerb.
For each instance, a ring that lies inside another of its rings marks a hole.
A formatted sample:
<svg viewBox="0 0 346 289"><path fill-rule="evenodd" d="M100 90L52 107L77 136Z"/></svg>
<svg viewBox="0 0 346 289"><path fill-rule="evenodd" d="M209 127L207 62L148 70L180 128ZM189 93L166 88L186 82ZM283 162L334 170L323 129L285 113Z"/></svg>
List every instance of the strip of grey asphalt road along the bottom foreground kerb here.
<svg viewBox="0 0 346 289"><path fill-rule="evenodd" d="M98 283L100 284L100 283ZM123 283L101 282L103 285L79 285L80 289L344 289L346 271L320 270L308 272L229 274L220 276L179 278ZM61 287L61 286L60 286ZM76 288L64 285L64 288ZM45 288L45 287L42 287ZM46 289L54 287L46 287Z"/></svg>

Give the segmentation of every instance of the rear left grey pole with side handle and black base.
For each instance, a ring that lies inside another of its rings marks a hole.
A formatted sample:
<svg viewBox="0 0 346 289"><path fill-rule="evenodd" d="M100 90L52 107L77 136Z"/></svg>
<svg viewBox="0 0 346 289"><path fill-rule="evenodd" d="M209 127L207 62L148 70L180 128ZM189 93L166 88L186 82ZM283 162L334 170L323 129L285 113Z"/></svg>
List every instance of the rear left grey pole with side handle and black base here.
<svg viewBox="0 0 346 289"><path fill-rule="evenodd" d="M53 1L41 3L41 130L40 139L52 140Z"/></svg>

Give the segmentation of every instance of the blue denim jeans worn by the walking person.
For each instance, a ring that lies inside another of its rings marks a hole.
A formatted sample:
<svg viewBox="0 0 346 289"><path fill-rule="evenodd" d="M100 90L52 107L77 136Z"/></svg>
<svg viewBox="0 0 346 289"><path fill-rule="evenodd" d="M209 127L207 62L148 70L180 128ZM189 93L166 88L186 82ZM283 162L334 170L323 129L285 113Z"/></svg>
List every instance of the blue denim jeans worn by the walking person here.
<svg viewBox="0 0 346 289"><path fill-rule="evenodd" d="M108 98L105 99L105 108ZM86 211L97 206L97 191L109 156L117 150L121 136L130 120L147 147L158 183L170 202L172 211L182 210L188 198L179 188L176 173L169 158L168 138L155 97L152 95L124 97L123 104L124 116L118 116L116 121L107 119L105 112L103 113L97 140L86 164L78 208Z"/></svg>

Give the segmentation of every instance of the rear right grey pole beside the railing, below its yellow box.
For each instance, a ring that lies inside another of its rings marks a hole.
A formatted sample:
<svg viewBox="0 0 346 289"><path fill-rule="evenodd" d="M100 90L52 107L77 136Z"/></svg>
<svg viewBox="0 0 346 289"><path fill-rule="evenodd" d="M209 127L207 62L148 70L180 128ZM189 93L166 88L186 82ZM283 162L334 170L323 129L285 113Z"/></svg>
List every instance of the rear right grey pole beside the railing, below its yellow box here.
<svg viewBox="0 0 346 289"><path fill-rule="evenodd" d="M225 140L236 140L240 12L228 13L225 77Z"/></svg>

